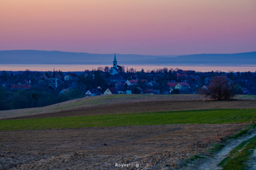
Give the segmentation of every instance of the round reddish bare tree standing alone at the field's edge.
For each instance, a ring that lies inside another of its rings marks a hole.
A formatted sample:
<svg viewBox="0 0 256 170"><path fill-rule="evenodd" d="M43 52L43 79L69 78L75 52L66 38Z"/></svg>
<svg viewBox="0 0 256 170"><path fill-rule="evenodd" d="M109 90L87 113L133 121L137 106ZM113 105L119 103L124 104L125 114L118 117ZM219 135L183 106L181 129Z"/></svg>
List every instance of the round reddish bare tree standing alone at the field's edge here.
<svg viewBox="0 0 256 170"><path fill-rule="evenodd" d="M233 85L225 76L216 76L210 80L207 88L201 89L201 93L214 100L229 100L234 96Z"/></svg>

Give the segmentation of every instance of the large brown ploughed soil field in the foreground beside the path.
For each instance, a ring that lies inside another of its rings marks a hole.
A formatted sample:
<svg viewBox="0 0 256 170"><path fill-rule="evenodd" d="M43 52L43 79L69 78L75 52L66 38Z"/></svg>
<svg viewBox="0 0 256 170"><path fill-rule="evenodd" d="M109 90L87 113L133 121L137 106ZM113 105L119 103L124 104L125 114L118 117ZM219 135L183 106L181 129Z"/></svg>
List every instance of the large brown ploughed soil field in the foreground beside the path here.
<svg viewBox="0 0 256 170"><path fill-rule="evenodd" d="M160 125L0 132L0 169L180 169L243 124Z"/></svg>

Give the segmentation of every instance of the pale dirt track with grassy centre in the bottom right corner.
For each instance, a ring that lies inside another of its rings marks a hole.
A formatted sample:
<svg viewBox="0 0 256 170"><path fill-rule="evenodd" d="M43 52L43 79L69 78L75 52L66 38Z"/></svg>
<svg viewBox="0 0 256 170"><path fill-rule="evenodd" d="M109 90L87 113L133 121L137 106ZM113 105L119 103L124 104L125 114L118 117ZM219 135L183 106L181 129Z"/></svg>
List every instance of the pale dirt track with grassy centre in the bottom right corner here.
<svg viewBox="0 0 256 170"><path fill-rule="evenodd" d="M249 138L252 138L253 136L256 135L256 129L253 129L250 131L251 134L244 136L239 139L233 139L228 143L220 152L218 152L215 157L208 158L206 160L201 160L203 161L202 164L194 165L190 164L190 167L186 169L195 169L195 166L197 166L197 169L199 170L216 170L216 169L222 169L221 167L217 166L224 158L226 158L229 154L230 151L232 151L234 148L236 148L240 143L242 143L245 140L248 140ZM256 164L255 164L255 157L256 157L256 152L254 151L254 157L252 156L251 159L254 159L252 168L255 169ZM201 162L199 161L199 163Z"/></svg>

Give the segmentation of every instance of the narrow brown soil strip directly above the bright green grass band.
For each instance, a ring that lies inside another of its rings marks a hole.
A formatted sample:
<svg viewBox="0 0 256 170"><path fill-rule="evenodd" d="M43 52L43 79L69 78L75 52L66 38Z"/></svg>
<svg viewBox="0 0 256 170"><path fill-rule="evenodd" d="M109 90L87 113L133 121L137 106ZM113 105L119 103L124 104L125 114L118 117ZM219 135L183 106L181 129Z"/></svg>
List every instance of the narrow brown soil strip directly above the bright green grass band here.
<svg viewBox="0 0 256 170"><path fill-rule="evenodd" d="M170 110L204 110L204 109L254 109L256 100L234 101L147 101L120 104L105 104L59 112L5 117L2 119L27 119L61 116L83 116L97 114L137 113Z"/></svg>

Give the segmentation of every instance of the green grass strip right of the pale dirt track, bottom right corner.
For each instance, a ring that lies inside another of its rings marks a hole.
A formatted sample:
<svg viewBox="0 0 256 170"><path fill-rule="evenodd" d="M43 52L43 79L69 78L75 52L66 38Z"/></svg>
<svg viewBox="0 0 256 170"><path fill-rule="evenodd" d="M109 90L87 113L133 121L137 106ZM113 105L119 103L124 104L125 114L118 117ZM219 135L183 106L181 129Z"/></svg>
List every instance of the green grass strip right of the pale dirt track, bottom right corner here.
<svg viewBox="0 0 256 170"><path fill-rule="evenodd" d="M229 153L228 157L219 163L219 166L222 166L223 170L245 169L247 168L245 162L249 159L254 149L256 149L256 136L240 143L238 147Z"/></svg>

